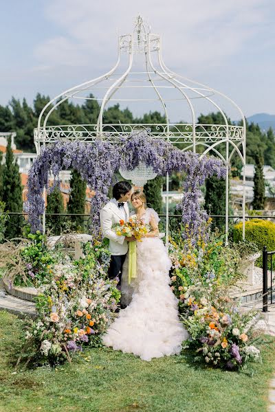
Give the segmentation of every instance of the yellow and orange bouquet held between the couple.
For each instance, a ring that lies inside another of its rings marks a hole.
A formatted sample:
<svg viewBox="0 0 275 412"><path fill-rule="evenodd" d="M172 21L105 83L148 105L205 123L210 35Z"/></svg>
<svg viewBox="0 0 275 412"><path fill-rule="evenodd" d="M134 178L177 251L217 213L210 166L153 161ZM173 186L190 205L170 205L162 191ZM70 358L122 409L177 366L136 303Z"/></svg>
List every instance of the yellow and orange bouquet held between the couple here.
<svg viewBox="0 0 275 412"><path fill-rule="evenodd" d="M148 227L136 215L131 216L129 222L124 222L121 219L119 224L113 225L113 229L118 236L126 236L127 238L133 236L137 242L142 242L142 238L148 233Z"/></svg>

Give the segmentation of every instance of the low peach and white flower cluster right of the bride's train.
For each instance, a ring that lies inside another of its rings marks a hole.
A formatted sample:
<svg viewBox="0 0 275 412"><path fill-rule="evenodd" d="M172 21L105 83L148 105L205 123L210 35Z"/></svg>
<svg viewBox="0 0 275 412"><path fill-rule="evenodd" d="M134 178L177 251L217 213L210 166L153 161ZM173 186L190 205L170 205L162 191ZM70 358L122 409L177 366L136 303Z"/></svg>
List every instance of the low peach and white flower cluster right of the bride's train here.
<svg viewBox="0 0 275 412"><path fill-rule="evenodd" d="M194 351L195 361L240 369L248 361L260 360L254 346L256 312L241 313L214 278L207 277L206 283L184 288L181 295L181 317L190 334L186 347Z"/></svg>

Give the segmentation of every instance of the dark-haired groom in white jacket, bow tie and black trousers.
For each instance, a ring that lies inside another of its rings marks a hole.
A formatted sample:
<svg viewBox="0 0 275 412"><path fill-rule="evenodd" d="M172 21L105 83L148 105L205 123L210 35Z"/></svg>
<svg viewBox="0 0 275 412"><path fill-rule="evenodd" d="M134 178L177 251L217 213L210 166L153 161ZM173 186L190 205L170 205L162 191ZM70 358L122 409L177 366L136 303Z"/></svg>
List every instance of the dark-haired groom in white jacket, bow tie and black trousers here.
<svg viewBox="0 0 275 412"><path fill-rule="evenodd" d="M120 286L122 266L128 251L128 242L131 238L118 236L111 227L120 220L129 219L129 207L127 201L131 196L132 187L128 182L118 182L113 186L113 198L100 211L100 224L102 235L109 239L109 251L111 252L111 263L109 266L109 278L119 278Z"/></svg>

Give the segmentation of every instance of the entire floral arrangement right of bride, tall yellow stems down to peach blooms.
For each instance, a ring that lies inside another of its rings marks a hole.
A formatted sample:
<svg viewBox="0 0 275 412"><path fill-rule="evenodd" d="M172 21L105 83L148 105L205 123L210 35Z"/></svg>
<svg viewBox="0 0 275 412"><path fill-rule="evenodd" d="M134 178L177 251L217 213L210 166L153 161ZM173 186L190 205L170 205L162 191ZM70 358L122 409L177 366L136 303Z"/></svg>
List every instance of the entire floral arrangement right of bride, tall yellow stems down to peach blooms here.
<svg viewBox="0 0 275 412"><path fill-rule="evenodd" d="M171 288L190 334L185 347L193 351L195 361L212 367L240 369L259 360L260 351L253 344L256 312L241 313L229 297L230 286L242 277L239 252L225 247L214 233L208 233L208 241L199 235L194 243L188 226L180 230L186 231L185 238L180 231L175 234L169 251Z"/></svg>

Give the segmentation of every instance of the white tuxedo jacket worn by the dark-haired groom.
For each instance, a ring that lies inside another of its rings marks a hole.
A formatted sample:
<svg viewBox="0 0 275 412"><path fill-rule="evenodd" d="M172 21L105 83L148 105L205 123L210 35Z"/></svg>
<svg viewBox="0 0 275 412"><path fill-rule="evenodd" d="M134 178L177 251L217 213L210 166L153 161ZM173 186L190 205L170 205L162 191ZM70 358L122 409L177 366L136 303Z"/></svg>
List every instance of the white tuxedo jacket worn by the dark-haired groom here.
<svg viewBox="0 0 275 412"><path fill-rule="evenodd" d="M124 209L124 211L123 211ZM125 216L126 213L126 216ZM111 255L126 255L128 251L128 242L124 236L118 236L111 227L119 223L121 219L129 219L129 207L124 203L124 207L118 207L113 201L108 202L100 210L100 225L102 235L109 239L109 251Z"/></svg>

